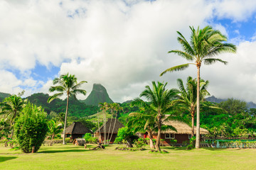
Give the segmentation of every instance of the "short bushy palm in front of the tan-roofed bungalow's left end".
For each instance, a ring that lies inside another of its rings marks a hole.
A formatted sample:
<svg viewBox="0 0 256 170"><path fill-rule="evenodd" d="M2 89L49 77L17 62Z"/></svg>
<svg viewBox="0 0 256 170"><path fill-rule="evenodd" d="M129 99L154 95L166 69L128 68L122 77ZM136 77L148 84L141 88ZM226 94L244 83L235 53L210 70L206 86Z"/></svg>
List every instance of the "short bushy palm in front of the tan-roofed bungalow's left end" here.
<svg viewBox="0 0 256 170"><path fill-rule="evenodd" d="M154 120L156 122L157 127L157 137L156 137L156 150L160 150L160 135L161 135L161 127L163 125L163 120L166 119L165 114L169 113L172 109L172 101L176 98L178 91L176 89L166 89L166 84L162 84L160 82L152 81L152 89L149 86L146 86L145 90L142 91L140 97L145 97L149 103L143 101L141 98L136 98L134 103L136 105L141 104L145 108L149 108L149 110L154 113ZM169 119L176 120L176 117L169 116ZM177 119L180 120L180 119Z"/></svg>

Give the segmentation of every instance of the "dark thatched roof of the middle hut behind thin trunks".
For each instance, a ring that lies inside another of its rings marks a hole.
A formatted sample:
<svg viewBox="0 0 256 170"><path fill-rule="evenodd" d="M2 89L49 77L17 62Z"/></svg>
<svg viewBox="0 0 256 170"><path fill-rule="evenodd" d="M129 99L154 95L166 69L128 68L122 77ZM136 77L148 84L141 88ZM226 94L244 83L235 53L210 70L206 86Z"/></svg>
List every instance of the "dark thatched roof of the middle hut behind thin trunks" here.
<svg viewBox="0 0 256 170"><path fill-rule="evenodd" d="M114 121L116 121L115 124L114 124ZM106 128L107 128L107 132L109 132L109 130L110 130L110 132L112 132L112 130L113 130L113 128L114 128L113 134L117 134L119 128L123 128L123 127L124 127L124 125L123 125L122 123L120 123L119 120L116 119L116 118L109 118L109 119L107 120L107 123L105 123L105 125L106 125ZM101 132L101 133L104 132L104 126L105 126L105 125L102 125L102 126L100 127L100 132ZM111 126L110 126L110 125L111 125ZM96 132L99 132L99 129L97 129Z"/></svg>

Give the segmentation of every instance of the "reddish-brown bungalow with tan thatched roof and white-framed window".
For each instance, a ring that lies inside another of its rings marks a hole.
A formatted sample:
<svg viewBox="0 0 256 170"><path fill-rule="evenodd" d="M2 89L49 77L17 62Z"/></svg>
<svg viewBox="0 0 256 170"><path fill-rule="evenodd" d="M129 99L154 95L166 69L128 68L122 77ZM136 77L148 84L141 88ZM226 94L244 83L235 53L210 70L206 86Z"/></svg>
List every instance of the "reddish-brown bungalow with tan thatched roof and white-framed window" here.
<svg viewBox="0 0 256 170"><path fill-rule="evenodd" d="M176 128L177 132L174 130L162 130L161 131L161 140L164 140L161 142L164 146L171 145L171 140L177 140L176 145L182 145L183 142L189 141L191 138L191 127L187 125L186 123L181 123L173 120L168 120L164 123L164 125L172 125L174 128ZM195 127L196 131L196 127ZM200 128L200 134L206 135L209 134L208 130ZM196 135L196 132L195 132ZM147 133L144 135L144 137L149 137ZM157 134L153 134L153 138L156 139Z"/></svg>

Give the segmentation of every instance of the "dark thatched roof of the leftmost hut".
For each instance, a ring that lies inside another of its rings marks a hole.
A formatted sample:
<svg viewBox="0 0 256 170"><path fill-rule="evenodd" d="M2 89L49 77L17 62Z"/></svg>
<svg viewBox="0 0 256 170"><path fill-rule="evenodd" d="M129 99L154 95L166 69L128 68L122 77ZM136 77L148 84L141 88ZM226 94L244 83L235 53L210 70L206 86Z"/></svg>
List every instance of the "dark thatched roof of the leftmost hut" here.
<svg viewBox="0 0 256 170"><path fill-rule="evenodd" d="M73 122L68 128L65 130L66 134L85 134L85 133L93 133L91 130L87 129L85 125L82 125L80 122Z"/></svg>

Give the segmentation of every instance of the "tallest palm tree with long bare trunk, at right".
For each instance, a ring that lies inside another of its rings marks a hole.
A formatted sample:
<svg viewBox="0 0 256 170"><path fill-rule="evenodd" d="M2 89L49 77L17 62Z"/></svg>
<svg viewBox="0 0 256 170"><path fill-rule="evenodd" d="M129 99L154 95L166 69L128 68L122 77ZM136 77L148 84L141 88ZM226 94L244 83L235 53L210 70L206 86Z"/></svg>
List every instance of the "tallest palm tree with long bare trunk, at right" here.
<svg viewBox="0 0 256 170"><path fill-rule="evenodd" d="M211 26L206 26L203 29L195 30L191 28L191 40L188 42L183 35L178 33L178 42L181 43L183 48L182 50L171 50L169 53L174 53L180 55L188 61L193 63L181 64L178 66L171 67L166 69L160 74L162 76L166 72L181 71L189 67L190 64L193 64L197 68L197 98L196 98L196 148L200 147L200 68L201 64L210 65L215 62L222 62L227 64L215 56L219 55L222 52L235 52L236 47L233 44L226 43L228 40L225 35L220 33L219 30L213 30Z"/></svg>

